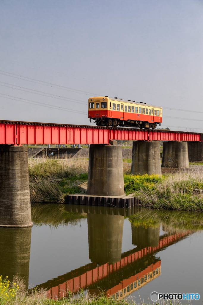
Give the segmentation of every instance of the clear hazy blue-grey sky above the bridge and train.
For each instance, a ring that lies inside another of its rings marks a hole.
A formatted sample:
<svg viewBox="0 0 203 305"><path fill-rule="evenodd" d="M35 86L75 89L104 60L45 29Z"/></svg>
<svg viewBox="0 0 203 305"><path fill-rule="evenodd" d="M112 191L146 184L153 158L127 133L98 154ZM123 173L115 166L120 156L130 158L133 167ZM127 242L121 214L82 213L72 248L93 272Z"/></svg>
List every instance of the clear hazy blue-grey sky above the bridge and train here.
<svg viewBox="0 0 203 305"><path fill-rule="evenodd" d="M201 0L1 0L0 120L89 124L108 95L203 132L202 16Z"/></svg>

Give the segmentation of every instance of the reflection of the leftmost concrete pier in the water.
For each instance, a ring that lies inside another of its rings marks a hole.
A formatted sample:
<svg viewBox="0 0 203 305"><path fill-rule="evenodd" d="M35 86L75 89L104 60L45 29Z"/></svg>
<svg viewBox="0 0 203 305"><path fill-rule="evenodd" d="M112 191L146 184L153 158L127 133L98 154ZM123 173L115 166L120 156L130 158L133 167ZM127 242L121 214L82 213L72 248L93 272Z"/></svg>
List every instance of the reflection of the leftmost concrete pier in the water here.
<svg viewBox="0 0 203 305"><path fill-rule="evenodd" d="M28 287L31 228L0 228L0 272L10 281L18 274Z"/></svg>

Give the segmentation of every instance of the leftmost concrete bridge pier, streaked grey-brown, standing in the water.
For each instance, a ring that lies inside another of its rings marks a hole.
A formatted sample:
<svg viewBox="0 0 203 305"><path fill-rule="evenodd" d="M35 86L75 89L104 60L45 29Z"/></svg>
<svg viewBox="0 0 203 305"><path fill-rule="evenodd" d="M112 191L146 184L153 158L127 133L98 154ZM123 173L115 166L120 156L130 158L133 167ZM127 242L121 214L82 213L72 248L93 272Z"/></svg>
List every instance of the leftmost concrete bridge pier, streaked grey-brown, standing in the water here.
<svg viewBox="0 0 203 305"><path fill-rule="evenodd" d="M32 226L27 147L0 145L0 226Z"/></svg>

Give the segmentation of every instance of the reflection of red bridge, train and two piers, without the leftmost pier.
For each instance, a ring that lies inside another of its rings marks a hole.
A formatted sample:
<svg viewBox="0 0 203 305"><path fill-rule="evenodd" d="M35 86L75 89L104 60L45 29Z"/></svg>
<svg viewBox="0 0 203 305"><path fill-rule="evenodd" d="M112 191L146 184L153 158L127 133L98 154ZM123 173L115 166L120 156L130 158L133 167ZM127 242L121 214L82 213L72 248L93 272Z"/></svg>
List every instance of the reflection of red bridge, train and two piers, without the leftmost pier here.
<svg viewBox="0 0 203 305"><path fill-rule="evenodd" d="M97 294L97 287L107 295L122 298L160 275L161 261L156 253L191 234L185 231L159 237L159 226L132 227L136 248L121 253L124 216L105 214L101 209L99 214L87 213L87 221L92 263L40 285L51 298L65 296L68 290L79 293L88 289Z"/></svg>

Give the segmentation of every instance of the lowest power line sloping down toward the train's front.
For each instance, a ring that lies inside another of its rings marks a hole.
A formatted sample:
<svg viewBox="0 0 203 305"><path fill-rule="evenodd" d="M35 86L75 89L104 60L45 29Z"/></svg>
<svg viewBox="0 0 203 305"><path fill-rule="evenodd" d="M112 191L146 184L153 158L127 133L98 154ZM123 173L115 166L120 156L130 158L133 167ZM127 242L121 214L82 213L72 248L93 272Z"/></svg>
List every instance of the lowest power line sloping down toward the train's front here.
<svg viewBox="0 0 203 305"><path fill-rule="evenodd" d="M58 109L58 110L62 110L62 111L80 113L80 114L83 114L83 115L87 115L86 112L80 111L80 110L77 111L77 110L68 109L68 108L65 108L65 107L55 106L55 105L46 104L46 103L42 103L42 102L36 102L36 101L29 100L29 99L23 99L23 98L19 98L17 96L12 96L12 95L3 94L3 93L0 93L0 95L3 95L3 97L5 99L12 99L12 100L15 100L15 101L18 101L18 102L32 104L32 105L35 105L35 106L42 106L42 107L53 108L53 109Z"/></svg>

